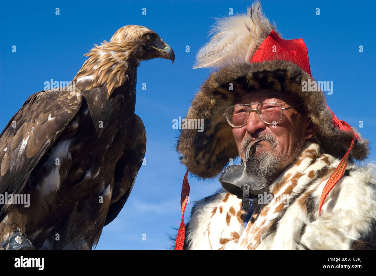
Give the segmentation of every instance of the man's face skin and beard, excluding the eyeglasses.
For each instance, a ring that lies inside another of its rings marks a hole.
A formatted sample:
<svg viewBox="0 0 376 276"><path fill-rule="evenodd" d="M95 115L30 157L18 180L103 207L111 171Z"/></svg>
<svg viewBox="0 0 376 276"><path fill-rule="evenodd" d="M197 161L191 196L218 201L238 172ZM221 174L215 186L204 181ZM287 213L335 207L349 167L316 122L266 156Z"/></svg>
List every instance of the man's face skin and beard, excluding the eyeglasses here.
<svg viewBox="0 0 376 276"><path fill-rule="evenodd" d="M237 99L234 105L262 102L276 102L282 105L282 108L300 103L287 94L261 90L245 94ZM255 108L256 105L250 107ZM311 138L315 130L308 118L297 109L291 108L283 111L282 120L274 125L265 124L256 112L251 112L247 124L232 128L232 133L242 160L250 142L263 140L256 143L256 150L247 165L253 173L273 181L299 155L305 140Z"/></svg>

